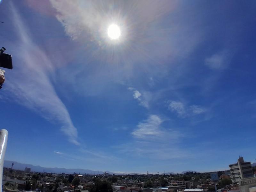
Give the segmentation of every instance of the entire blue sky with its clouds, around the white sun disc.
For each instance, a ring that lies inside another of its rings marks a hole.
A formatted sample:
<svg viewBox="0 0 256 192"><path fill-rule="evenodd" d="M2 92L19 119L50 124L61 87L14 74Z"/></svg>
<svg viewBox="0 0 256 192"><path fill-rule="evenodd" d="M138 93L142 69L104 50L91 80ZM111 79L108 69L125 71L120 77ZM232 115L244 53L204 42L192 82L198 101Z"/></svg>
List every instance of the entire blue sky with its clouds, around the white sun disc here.
<svg viewBox="0 0 256 192"><path fill-rule="evenodd" d="M0 3L6 160L156 173L255 162L255 1ZM117 40L107 28L120 27Z"/></svg>

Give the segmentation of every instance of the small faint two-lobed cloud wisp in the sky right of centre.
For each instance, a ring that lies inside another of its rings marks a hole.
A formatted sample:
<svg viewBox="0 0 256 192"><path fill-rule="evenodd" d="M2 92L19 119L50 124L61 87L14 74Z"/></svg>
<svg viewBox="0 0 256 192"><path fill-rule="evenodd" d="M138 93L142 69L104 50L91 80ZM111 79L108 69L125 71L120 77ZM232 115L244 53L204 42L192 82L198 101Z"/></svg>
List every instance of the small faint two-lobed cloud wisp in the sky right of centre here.
<svg viewBox="0 0 256 192"><path fill-rule="evenodd" d="M169 104L168 109L177 113L181 118L199 115L207 111L204 107L198 105L187 106L180 101L169 100L167 103Z"/></svg>

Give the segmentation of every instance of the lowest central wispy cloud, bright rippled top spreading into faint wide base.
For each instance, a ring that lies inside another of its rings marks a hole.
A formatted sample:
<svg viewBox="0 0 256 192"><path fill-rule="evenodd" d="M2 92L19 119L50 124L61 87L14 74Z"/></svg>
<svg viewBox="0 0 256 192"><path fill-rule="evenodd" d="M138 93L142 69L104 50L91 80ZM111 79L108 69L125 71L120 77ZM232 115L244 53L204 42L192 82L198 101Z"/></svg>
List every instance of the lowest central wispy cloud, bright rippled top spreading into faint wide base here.
<svg viewBox="0 0 256 192"><path fill-rule="evenodd" d="M159 115L150 115L148 119L138 123L132 132L133 140L117 146L120 153L149 159L185 158L189 152L179 147L179 142L186 134L164 127L167 119ZM171 146L171 147L170 147Z"/></svg>

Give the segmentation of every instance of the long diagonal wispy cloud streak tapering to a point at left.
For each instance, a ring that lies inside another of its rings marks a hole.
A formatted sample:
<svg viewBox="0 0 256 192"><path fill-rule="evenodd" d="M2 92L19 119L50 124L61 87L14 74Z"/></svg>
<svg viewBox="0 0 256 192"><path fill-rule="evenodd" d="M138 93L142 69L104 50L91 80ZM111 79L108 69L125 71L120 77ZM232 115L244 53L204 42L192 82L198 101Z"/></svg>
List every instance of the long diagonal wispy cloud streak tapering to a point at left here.
<svg viewBox="0 0 256 192"><path fill-rule="evenodd" d="M60 126L68 140L78 145L77 129L50 79L53 65L44 51L33 43L25 23L11 5L13 22L20 37L20 43L13 45L16 47L13 50L18 50L13 53L16 56L13 61L22 65L17 65L18 70L12 72L15 78L9 79L8 90L16 102Z"/></svg>

